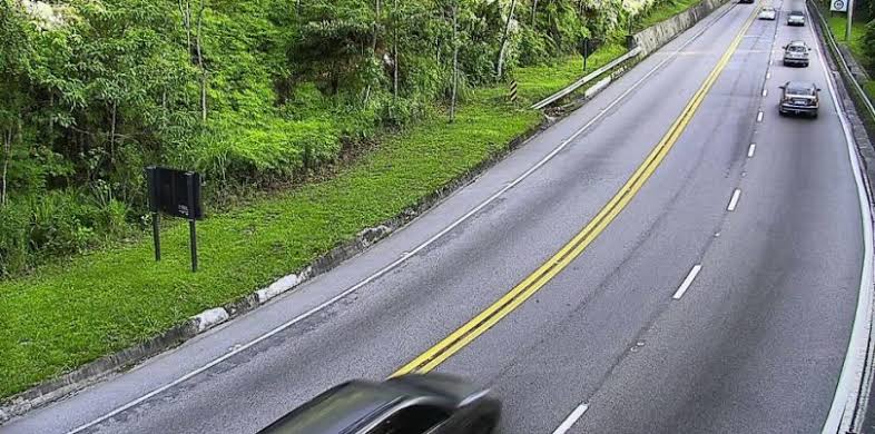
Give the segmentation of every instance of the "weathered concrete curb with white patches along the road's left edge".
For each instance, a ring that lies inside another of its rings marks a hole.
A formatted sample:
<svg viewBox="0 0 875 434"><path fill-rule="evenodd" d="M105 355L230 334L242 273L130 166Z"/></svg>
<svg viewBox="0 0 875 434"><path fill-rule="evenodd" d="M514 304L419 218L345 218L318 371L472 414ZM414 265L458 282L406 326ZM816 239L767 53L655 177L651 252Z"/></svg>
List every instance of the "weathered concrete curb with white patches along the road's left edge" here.
<svg viewBox="0 0 875 434"><path fill-rule="evenodd" d="M13 417L21 416L31 410L36 410L50 403L72 396L88 386L105 381L114 375L118 375L137 364L140 364L168 349L177 347L186 341L199 334L206 333L219 324L252 312L257 307L271 302L272 299L289 293L292 289L309 280L311 278L316 277L323 273L327 273L337 267L341 263L362 254L372 245L386 238L392 233L403 228L423 213L442 203L443 199L448 198L456 190L473 183L485 170L503 160L508 155L523 146L525 142L531 140L534 136L553 125L559 119L564 118L578 108L582 107L587 101L608 88L610 83L631 70L638 62L643 60L650 53L670 42L677 36L690 29L692 26L710 16L711 12L719 9L727 2L729 2L729 0L702 0L699 6L678 13L675 17L671 17L636 33L636 43L640 43L639 36L649 31L656 30L656 32L662 38L656 42L658 45L648 47L646 50L642 50L641 55L631 58L632 61L621 62L612 71L607 71L604 75L600 76L599 78L603 78L596 83L597 86L586 89L584 95L577 97L572 102L562 106L558 112L551 111L549 116L545 114L538 125L533 126L522 135L511 140L501 151L479 162L465 174L450 181L443 187L440 187L433 193L424 196L415 206L402 210L399 215L381 225L363 229L353 240L335 247L308 266L304 267L302 270L284 276L267 287L257 289L254 293L243 296L234 302L227 303L223 306L206 309L195 316L189 317L188 320L177 324L167 332L158 334L140 344L125 348L115 354L100 357L94 362L82 365L76 371L63 374L57 378L46 381L24 392L0 401L0 425L9 422ZM706 7L701 8L702 6Z"/></svg>

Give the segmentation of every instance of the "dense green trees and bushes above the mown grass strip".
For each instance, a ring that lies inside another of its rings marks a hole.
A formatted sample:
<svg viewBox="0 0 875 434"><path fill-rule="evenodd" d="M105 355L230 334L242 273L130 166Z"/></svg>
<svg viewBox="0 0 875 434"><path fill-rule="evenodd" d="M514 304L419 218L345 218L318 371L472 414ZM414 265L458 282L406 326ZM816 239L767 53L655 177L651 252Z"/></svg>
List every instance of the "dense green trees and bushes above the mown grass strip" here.
<svg viewBox="0 0 875 434"><path fill-rule="evenodd" d="M0 274L136 235L147 165L213 204L295 183L603 40L622 3L648 2L0 0Z"/></svg>

